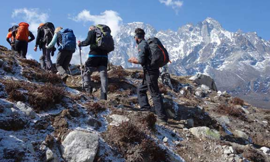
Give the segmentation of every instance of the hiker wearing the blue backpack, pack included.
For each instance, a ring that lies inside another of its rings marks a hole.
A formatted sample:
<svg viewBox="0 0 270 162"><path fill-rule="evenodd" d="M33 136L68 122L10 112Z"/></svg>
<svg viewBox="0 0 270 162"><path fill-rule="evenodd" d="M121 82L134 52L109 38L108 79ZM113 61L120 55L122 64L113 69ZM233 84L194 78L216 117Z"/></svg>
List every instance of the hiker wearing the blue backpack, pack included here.
<svg viewBox="0 0 270 162"><path fill-rule="evenodd" d="M63 43L64 42L64 43ZM58 54L56 57L56 69L61 79L66 82L68 79L68 67L72 59L72 55L76 50L76 37L72 29L57 27L54 31L51 42L47 49L51 49L57 43Z"/></svg>

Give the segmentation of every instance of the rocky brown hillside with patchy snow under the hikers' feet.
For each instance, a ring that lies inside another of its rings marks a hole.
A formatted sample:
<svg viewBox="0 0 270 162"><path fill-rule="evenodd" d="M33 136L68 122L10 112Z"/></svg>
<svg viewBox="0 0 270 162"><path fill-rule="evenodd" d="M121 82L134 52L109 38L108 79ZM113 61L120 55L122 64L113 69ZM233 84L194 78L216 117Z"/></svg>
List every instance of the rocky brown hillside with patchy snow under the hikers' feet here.
<svg viewBox="0 0 270 162"><path fill-rule="evenodd" d="M208 76L160 83L169 125L139 111L143 72L112 66L108 101L66 85L0 46L0 162L270 162L270 110L216 89ZM150 100L151 102L151 100ZM152 103L150 103L152 105Z"/></svg>

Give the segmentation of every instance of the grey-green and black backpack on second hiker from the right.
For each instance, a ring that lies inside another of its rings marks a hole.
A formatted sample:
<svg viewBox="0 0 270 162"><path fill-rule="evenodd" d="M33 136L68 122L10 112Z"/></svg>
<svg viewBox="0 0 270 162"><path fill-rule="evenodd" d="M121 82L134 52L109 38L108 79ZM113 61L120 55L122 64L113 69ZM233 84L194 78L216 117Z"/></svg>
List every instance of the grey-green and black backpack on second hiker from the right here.
<svg viewBox="0 0 270 162"><path fill-rule="evenodd" d="M97 47L101 50L112 52L114 51L114 40L111 35L110 27L106 25L97 25L96 26L96 43Z"/></svg>

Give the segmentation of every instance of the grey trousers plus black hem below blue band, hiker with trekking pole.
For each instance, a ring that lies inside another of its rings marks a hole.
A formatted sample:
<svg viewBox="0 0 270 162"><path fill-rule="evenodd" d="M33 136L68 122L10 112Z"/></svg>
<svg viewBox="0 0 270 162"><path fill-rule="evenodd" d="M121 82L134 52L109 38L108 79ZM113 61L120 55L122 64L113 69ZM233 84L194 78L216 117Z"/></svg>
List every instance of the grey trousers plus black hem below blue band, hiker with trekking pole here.
<svg viewBox="0 0 270 162"><path fill-rule="evenodd" d="M85 69L83 72L84 87L86 92L92 93L93 85L91 81L91 75L93 72L98 71L101 89L100 89L100 100L107 100L108 93L108 74L107 74L107 57L89 57L85 62Z"/></svg>

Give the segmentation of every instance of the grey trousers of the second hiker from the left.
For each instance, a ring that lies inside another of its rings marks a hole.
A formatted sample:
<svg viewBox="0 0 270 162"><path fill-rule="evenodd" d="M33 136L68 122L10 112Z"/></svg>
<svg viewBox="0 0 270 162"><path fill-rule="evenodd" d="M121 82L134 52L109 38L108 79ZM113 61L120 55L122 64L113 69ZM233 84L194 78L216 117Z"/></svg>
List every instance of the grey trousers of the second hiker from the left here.
<svg viewBox="0 0 270 162"><path fill-rule="evenodd" d="M52 69L52 62L50 59L50 54L52 52L52 48L47 49L45 47L46 45L42 45L41 49L42 49L42 55L39 58L39 62L41 65L41 68L44 70L51 70ZM48 64L47 64L48 63Z"/></svg>

